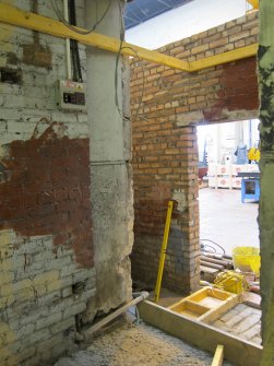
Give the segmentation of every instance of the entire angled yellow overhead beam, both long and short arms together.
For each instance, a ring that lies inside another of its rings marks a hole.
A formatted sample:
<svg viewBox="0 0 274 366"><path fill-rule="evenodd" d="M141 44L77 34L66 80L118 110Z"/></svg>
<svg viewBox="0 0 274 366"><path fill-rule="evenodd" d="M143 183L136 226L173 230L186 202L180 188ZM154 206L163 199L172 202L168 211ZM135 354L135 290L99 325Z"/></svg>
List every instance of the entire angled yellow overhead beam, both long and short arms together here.
<svg viewBox="0 0 274 366"><path fill-rule="evenodd" d="M120 39L108 37L97 33L83 35L68 28L63 23L50 17L41 16L31 12L24 12L17 8L0 3L0 22L21 26L24 28L49 34L60 38L75 39L84 45L94 46L111 52L120 50ZM83 28L78 27L81 31ZM258 44L237 48L231 51L207 57L198 61L187 62L171 56L167 56L157 51L148 50L143 47L134 46L129 43L122 43L121 54L138 57L154 63L165 64L172 69L181 71L199 71L214 66L237 61L247 57L257 55Z"/></svg>

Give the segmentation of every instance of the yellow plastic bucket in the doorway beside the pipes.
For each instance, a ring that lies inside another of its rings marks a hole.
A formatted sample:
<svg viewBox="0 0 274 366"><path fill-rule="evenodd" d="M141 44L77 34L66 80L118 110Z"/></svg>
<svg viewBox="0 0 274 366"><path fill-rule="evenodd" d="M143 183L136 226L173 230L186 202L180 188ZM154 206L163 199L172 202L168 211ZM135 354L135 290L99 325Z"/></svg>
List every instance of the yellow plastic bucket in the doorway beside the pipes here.
<svg viewBox="0 0 274 366"><path fill-rule="evenodd" d="M234 268L242 272L254 272L260 276L260 249L254 247L237 247L233 249Z"/></svg>

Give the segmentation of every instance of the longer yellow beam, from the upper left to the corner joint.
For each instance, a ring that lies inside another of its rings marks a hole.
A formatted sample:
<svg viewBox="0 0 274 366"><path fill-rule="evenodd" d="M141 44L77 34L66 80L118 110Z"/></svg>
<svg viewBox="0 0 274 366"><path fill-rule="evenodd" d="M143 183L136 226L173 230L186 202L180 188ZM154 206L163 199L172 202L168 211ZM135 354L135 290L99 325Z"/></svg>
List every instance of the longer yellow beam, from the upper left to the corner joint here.
<svg viewBox="0 0 274 366"><path fill-rule="evenodd" d="M75 39L84 45L98 47L111 52L118 52L120 49L120 39L97 33L82 35L68 28L61 22L31 12L24 12L3 3L0 4L0 22L38 31L60 38ZM84 31L80 27L79 29ZM189 71L189 62L146 48L138 47L126 42L122 43L121 54L133 57L136 57L138 55L140 59L162 63L182 71Z"/></svg>

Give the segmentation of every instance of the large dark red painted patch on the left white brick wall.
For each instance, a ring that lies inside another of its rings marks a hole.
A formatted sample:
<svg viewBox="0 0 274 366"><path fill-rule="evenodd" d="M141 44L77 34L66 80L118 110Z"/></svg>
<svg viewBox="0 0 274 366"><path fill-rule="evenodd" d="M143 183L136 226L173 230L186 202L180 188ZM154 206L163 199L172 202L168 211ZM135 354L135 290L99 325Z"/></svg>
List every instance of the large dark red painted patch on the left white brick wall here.
<svg viewBox="0 0 274 366"><path fill-rule="evenodd" d="M53 235L73 248L80 267L93 267L87 139L58 137L52 123L38 139L13 141L0 160L10 177L0 185L0 229ZM56 130L55 130L56 129Z"/></svg>

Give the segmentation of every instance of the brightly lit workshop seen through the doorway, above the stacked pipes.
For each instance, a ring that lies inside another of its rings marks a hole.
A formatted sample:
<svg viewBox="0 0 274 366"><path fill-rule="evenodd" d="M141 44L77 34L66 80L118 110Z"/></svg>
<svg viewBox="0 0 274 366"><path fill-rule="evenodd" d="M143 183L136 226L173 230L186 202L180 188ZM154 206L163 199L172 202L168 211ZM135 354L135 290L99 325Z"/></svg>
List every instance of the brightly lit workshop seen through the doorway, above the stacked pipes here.
<svg viewBox="0 0 274 366"><path fill-rule="evenodd" d="M228 255L239 246L260 247L259 201L254 197L242 202L239 176L259 173L258 162L248 156L259 147L258 127L258 119L198 127L199 163L205 167L200 172L200 237Z"/></svg>

